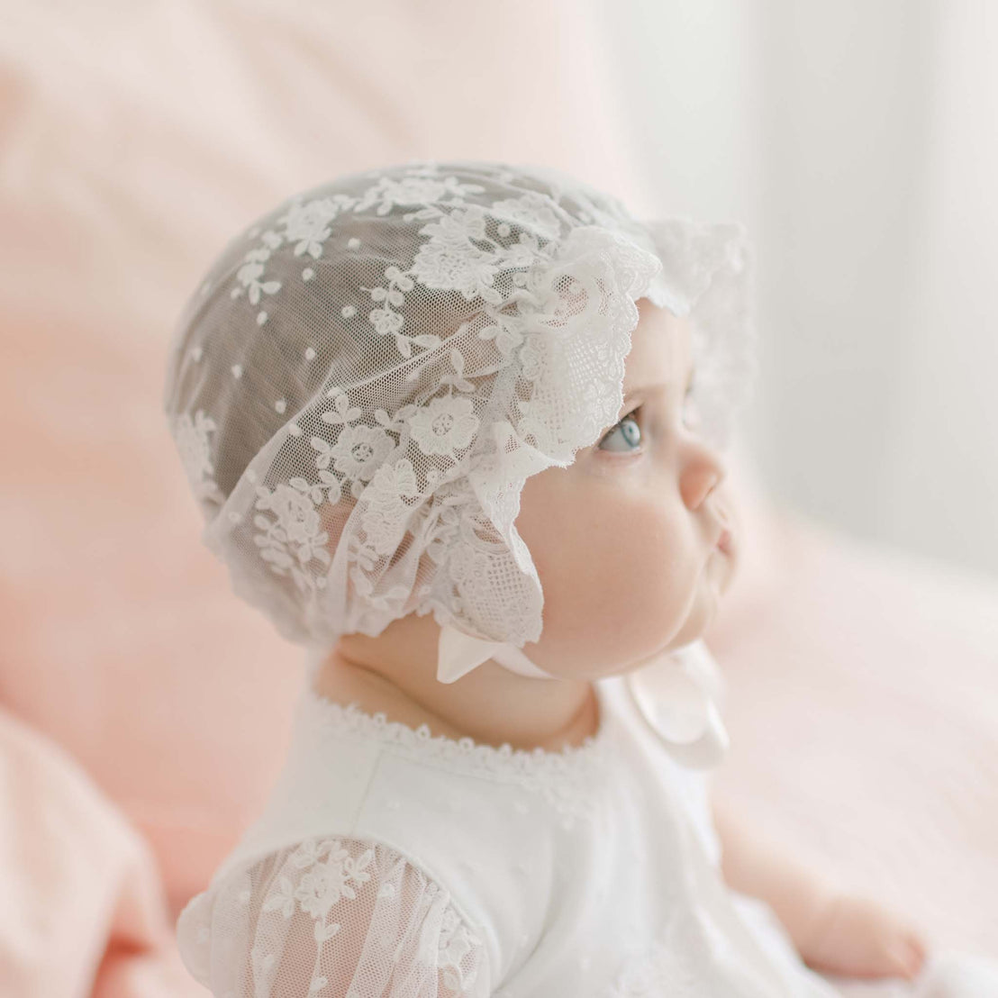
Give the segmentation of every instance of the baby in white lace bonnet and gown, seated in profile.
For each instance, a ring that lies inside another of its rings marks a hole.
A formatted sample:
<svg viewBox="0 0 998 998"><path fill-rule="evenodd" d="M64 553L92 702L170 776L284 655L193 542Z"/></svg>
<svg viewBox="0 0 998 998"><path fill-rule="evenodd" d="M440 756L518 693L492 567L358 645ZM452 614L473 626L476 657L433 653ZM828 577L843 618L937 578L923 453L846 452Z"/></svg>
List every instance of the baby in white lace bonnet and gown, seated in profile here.
<svg viewBox="0 0 998 998"><path fill-rule="evenodd" d="M708 795L748 299L741 227L505 164L340 178L225 250L166 410L205 542L309 668L264 813L178 924L215 994L920 974L903 917Z"/></svg>

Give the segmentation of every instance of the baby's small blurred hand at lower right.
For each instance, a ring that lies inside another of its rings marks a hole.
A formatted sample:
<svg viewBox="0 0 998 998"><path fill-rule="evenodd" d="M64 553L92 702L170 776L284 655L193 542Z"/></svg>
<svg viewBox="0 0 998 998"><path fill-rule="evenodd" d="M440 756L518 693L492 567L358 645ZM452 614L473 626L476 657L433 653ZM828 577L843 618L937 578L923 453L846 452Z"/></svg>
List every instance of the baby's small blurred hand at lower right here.
<svg viewBox="0 0 998 998"><path fill-rule="evenodd" d="M921 972L927 946L918 929L876 901L836 893L823 905L800 957L842 977L905 977Z"/></svg>

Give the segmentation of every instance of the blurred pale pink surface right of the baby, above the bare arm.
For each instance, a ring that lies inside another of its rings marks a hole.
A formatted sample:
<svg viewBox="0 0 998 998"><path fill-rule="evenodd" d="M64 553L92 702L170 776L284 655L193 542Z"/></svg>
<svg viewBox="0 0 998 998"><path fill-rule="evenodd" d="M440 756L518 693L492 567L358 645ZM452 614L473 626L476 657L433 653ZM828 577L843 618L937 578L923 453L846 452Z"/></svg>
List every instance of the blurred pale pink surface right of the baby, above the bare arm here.
<svg viewBox="0 0 998 998"><path fill-rule="evenodd" d="M771 522L764 606L707 638L715 792L933 941L998 954L998 584Z"/></svg>

